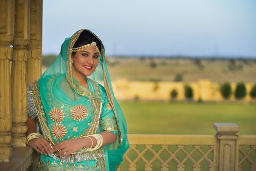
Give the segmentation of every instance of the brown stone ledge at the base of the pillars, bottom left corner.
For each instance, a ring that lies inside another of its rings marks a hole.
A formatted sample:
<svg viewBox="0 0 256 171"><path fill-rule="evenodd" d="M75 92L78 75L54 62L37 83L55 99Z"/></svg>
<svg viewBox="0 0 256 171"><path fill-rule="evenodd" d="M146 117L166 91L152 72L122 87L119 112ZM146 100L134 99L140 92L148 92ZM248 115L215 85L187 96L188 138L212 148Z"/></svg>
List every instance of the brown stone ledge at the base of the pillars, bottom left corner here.
<svg viewBox="0 0 256 171"><path fill-rule="evenodd" d="M1 170L25 171L33 162L33 149L31 147L12 147L13 156L9 162L0 162Z"/></svg>

